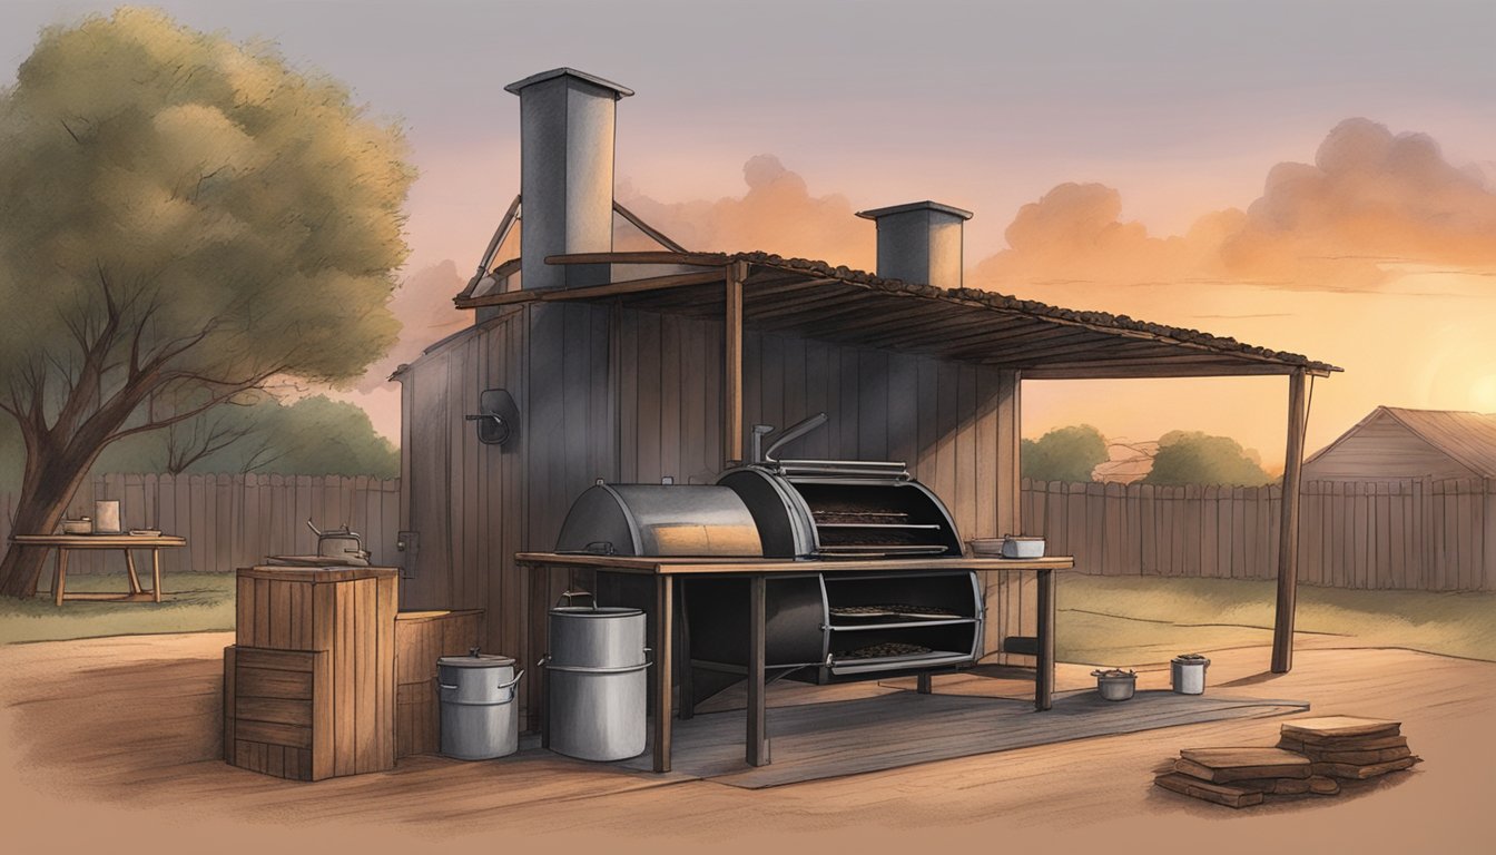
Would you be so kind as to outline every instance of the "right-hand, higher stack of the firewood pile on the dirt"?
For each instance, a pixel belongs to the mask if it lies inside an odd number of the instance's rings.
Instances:
[[[1400,731],[1400,722],[1355,716],[1300,719],[1284,725],[1278,747],[1309,758],[1316,776],[1366,780],[1421,761]]]

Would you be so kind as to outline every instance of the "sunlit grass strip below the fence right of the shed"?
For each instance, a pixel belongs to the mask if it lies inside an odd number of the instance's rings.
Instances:
[[[1179,653],[1270,644],[1272,581],[1065,576],[1056,656],[1143,665]],[[1496,594],[1299,587],[1294,629],[1363,647],[1496,660]]]

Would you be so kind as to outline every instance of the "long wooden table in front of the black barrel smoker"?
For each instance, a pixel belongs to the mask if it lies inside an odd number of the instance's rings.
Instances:
[[[749,765],[769,764],[767,710],[764,705],[764,590],[769,576],[839,572],[911,572],[911,570],[1035,570],[1038,576],[1038,654],[1034,677],[1034,708],[1049,710],[1055,693],[1055,570],[1068,570],[1076,560],[1068,556],[1046,559],[901,559],[901,560],[779,560],[779,559],[664,559],[633,556],[585,556],[560,553],[519,553],[516,563],[531,572],[548,568],[574,568],[636,573],[655,579],[655,719],[654,771],[670,771],[670,719],[675,705],[670,689],[675,681],[672,656],[673,590],[676,576],[747,576],[748,578],[748,732],[745,758]],[[531,597],[548,597],[549,588],[533,579]],[[533,602],[537,609],[540,602]],[[922,681],[922,689],[928,683]],[[542,716],[545,735],[545,716]]]

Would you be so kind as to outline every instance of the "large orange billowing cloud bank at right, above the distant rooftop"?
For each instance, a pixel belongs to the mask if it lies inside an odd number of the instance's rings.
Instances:
[[[1011,249],[978,264],[975,283],[1058,299],[1086,285],[1360,290],[1387,282],[1388,264],[1496,268],[1496,192],[1481,169],[1364,118],[1336,126],[1313,165],[1273,166],[1246,211],[1206,214],[1185,235],[1149,237],[1121,213],[1110,187],[1061,184],[1019,210]]]

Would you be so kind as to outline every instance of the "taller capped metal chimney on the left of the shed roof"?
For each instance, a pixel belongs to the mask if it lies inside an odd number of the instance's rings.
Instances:
[[[603,285],[609,265],[546,256],[613,249],[613,114],[633,90],[576,69],[504,87],[519,96],[521,287]]]

